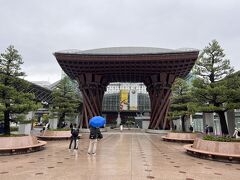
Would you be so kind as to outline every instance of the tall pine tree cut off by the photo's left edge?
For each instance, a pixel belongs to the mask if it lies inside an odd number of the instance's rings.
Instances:
[[[3,112],[4,133],[10,134],[10,121],[36,108],[34,95],[25,93],[29,84],[21,79],[22,57],[14,46],[0,56],[0,109]]]

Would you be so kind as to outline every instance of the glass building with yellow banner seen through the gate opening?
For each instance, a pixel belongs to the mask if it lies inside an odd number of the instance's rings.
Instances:
[[[108,123],[120,113],[122,122],[150,112],[150,99],[143,83],[110,83],[104,94],[102,112]]]

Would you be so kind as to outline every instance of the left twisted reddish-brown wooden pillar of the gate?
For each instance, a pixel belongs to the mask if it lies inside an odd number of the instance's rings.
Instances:
[[[77,81],[83,97],[83,127],[88,128],[88,121],[102,114],[102,100],[107,82],[102,75],[81,74]]]

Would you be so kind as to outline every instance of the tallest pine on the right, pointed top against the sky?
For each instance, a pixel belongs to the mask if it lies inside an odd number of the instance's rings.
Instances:
[[[195,65],[197,78],[193,81],[195,109],[215,112],[220,118],[223,134],[228,134],[224,112],[226,109],[228,87],[223,80],[233,72],[230,61],[225,58],[224,50],[216,40],[205,47]]]

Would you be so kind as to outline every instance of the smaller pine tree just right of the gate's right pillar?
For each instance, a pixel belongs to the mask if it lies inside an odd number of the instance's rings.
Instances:
[[[172,86],[172,97],[169,115],[175,119],[180,117],[182,122],[182,131],[185,129],[186,117],[190,114],[188,103],[192,101],[190,85],[184,79],[176,79]]]

